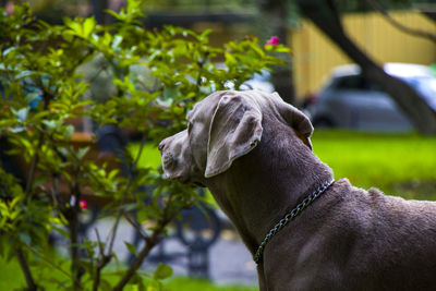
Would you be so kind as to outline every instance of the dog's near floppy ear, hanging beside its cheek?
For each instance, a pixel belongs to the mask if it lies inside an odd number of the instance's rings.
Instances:
[[[262,137],[262,112],[239,95],[223,95],[211,118],[205,177],[225,172]]]

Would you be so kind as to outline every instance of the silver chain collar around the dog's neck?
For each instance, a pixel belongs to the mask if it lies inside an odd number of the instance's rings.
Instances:
[[[262,259],[262,255],[264,253],[265,245],[271,240],[272,235],[279,232],[289,221],[293,220],[298,215],[303,211],[311,203],[313,203],[317,197],[319,197],[332,183],[335,180],[326,182],[317,187],[313,193],[311,193],[307,197],[304,198],[299,205],[295,206],[290,213],[288,213],[274,228],[266,234],[264,241],[257,247],[256,253],[254,254],[254,262],[258,264]]]

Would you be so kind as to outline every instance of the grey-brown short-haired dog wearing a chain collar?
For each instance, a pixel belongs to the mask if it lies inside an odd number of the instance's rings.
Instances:
[[[436,290],[436,203],[334,181],[280,96],[222,90],[159,144],[169,179],[207,186],[264,290]],[[295,215],[296,214],[296,215]]]

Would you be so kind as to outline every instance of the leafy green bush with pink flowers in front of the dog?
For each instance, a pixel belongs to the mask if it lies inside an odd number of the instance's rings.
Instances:
[[[21,179],[0,172],[0,253],[17,258],[28,290],[52,280],[73,290],[122,290],[129,283],[145,288],[137,274],[142,262],[168,222],[201,198],[162,179],[159,168],[136,167],[146,142],[157,144],[181,130],[194,102],[229,82],[239,88],[254,73],[279,64],[272,54],[288,52],[281,45],[259,46],[254,37],[213,47],[210,31],[146,29],[142,2],[131,0],[121,12],[110,12],[117,21],[107,26],[94,17],[49,25],[35,20],[26,4],[15,5],[10,15],[0,10],[0,133],[2,146],[9,145],[2,159],[25,165]],[[217,68],[218,61],[226,68]],[[89,62],[97,64],[94,75],[81,74]],[[94,96],[93,82],[102,74],[111,78],[105,84],[108,96]],[[90,158],[94,143],[74,142],[74,119],[141,133],[135,155],[119,155],[124,172]],[[155,186],[144,191],[143,185]],[[105,209],[114,217],[106,241],[98,232],[97,241],[81,241],[77,235],[85,192],[106,198]],[[143,247],[126,245],[135,259],[113,286],[102,270],[116,256],[113,241],[123,217],[134,227],[135,221],[154,220],[154,227],[142,232]],[[69,258],[50,255],[48,235],[53,231],[69,240]],[[84,250],[86,256],[81,256]],[[65,278],[43,276],[47,268]],[[152,278],[159,281],[170,275],[169,267],[160,265]]]

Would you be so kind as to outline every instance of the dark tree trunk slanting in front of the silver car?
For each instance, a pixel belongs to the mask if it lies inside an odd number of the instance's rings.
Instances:
[[[436,135],[436,112],[408,84],[392,77],[347,36],[334,0],[298,0],[301,12],[362,69],[362,74],[389,94],[425,135]]]

